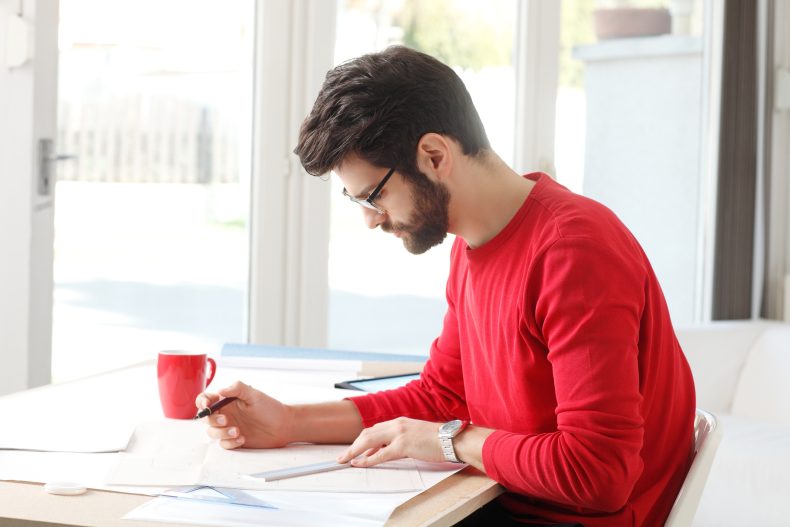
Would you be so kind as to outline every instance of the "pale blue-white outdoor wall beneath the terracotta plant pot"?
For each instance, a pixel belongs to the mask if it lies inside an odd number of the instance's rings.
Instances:
[[[702,165],[702,42],[587,46],[584,194],[611,208],[656,271],[676,323],[695,319]]]

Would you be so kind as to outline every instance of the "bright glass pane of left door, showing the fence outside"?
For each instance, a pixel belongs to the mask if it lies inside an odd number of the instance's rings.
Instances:
[[[61,0],[52,370],[246,338],[254,0]]]

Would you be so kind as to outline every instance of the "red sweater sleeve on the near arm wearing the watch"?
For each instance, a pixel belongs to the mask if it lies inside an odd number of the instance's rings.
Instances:
[[[640,318],[646,271],[624,240],[560,238],[529,271],[529,331],[548,350],[556,431],[498,430],[483,464],[509,490],[582,509],[623,507],[643,470]]]

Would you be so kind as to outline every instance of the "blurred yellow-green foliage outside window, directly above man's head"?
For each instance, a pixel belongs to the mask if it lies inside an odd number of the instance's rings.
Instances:
[[[407,46],[452,67],[480,70],[512,64],[513,10],[502,0],[404,0],[396,23]]]

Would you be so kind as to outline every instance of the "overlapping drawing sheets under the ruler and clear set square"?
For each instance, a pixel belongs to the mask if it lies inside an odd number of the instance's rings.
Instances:
[[[165,492],[125,519],[295,527],[314,524],[320,511],[322,526],[378,526],[400,504],[462,468],[404,459],[266,482],[249,474],[334,459],[347,447],[225,450],[207,440],[201,428],[201,423],[164,420],[137,428],[128,451],[119,454],[110,483],[198,487]]]

